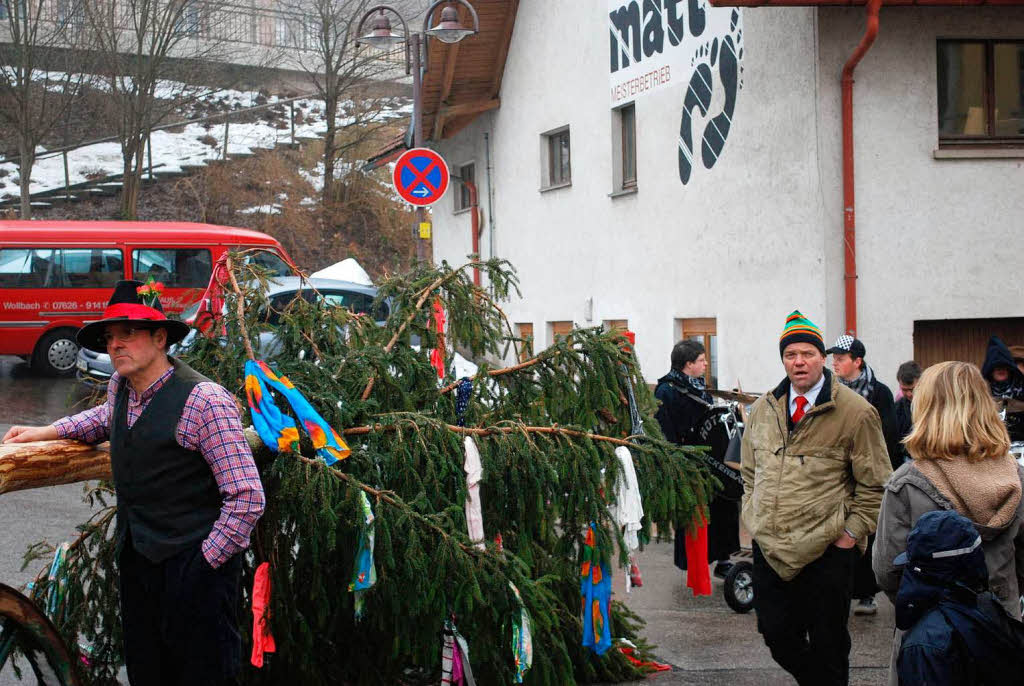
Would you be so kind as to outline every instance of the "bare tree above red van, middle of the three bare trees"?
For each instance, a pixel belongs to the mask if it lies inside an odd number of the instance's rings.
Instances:
[[[219,31],[238,13],[217,0],[82,0],[113,99],[124,165],[121,216],[137,216],[153,128],[209,94],[232,49]],[[261,57],[269,60],[269,52]],[[226,141],[225,141],[226,144]]]

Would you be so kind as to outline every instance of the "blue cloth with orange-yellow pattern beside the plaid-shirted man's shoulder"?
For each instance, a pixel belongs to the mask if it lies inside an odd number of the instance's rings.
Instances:
[[[312,439],[317,457],[328,467],[351,454],[344,439],[313,410],[288,377],[279,377],[263,360],[250,359],[246,362],[246,398],[252,411],[253,426],[268,448],[274,453],[292,453],[297,452],[299,442],[295,420],[274,404],[271,388],[292,405],[300,425]]]

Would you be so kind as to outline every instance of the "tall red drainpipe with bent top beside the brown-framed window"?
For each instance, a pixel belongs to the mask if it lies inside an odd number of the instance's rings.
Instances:
[[[867,28],[860,45],[843,67],[843,245],[845,247],[846,333],[857,334],[857,218],[853,176],[853,70],[879,35],[882,0],[867,0]]]

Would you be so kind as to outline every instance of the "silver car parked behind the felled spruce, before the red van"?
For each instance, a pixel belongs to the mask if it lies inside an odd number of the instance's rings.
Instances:
[[[306,284],[312,285],[319,292],[324,302],[328,305],[347,307],[357,314],[372,314],[374,320],[383,325],[390,312],[388,303],[382,302],[374,306],[377,298],[377,288],[364,286],[351,282],[334,281],[332,278],[308,278]],[[270,300],[271,312],[266,321],[270,327],[278,324],[278,315],[273,310],[282,310],[288,303],[295,299],[301,291],[301,295],[306,300],[312,302],[314,292],[309,289],[302,289],[303,280],[299,276],[276,276],[270,284],[267,297]],[[199,311],[199,303],[193,304],[181,313],[181,318],[185,321],[196,316]],[[196,337],[196,330],[191,330],[183,341],[172,347],[172,352],[182,347],[187,347]],[[263,354],[271,354],[276,348],[273,332],[265,331],[259,335],[259,350]],[[80,348],[78,351],[77,377],[78,380],[90,386],[105,386],[114,374],[114,366],[111,357],[105,352],[93,352]]]

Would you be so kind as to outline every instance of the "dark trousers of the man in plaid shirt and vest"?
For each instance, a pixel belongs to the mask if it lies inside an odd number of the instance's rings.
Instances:
[[[125,542],[121,621],[132,686],[236,684],[242,556],[212,568],[200,545],[154,563]]]

